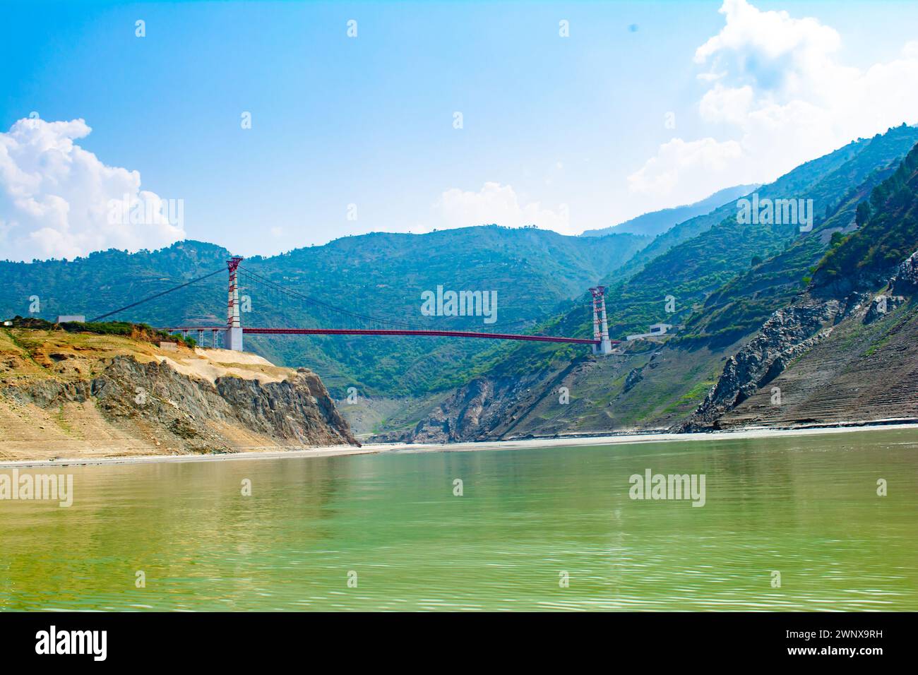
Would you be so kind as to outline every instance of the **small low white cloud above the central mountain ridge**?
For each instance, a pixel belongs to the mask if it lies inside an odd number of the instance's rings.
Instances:
[[[433,205],[435,227],[464,228],[496,223],[505,227],[537,225],[543,230],[574,234],[564,205],[554,211],[539,202],[520,203],[511,186],[486,183],[478,192],[456,187],[444,192]]]

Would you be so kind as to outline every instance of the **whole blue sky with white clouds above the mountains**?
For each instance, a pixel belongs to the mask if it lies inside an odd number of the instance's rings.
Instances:
[[[914,2],[29,0],[0,21],[0,259],[578,234],[918,122]]]

